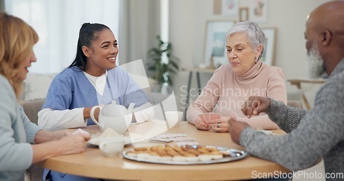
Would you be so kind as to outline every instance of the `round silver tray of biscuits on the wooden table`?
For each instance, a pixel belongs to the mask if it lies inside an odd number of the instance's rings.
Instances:
[[[158,145],[135,147],[122,153],[124,158],[138,162],[151,162],[169,165],[201,165],[231,162],[248,156],[247,152],[228,147],[200,145]]]

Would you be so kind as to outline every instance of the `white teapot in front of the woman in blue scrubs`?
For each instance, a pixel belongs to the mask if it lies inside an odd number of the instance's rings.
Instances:
[[[101,106],[93,106],[91,109],[91,119],[99,125],[102,131],[105,128],[111,128],[118,134],[123,134],[131,123],[133,106],[135,106],[135,103],[131,103],[127,109],[125,106],[116,104],[116,101],[111,101],[111,104],[107,104],[103,108]],[[98,120],[94,117],[94,110],[96,108],[100,109]]]

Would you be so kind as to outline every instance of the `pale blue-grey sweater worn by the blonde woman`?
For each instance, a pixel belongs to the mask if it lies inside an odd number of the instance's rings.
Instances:
[[[34,136],[41,130],[17,103],[12,86],[0,75],[0,180],[24,180],[32,164]]]

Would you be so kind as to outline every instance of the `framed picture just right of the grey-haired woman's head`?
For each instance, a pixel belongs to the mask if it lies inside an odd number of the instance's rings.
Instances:
[[[266,45],[261,56],[261,62],[264,62],[268,65],[274,64],[274,55],[275,55],[275,37],[276,37],[276,28],[275,27],[261,27],[266,36]]]

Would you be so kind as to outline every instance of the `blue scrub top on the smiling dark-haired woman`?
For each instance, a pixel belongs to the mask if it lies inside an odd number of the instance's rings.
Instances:
[[[111,104],[112,100],[128,108],[131,103],[135,103],[135,107],[146,104],[148,97],[120,67],[107,71],[107,84],[103,95],[97,93],[79,67],[69,67],[52,80],[42,109],[72,110]],[[94,125],[94,122],[88,119],[87,125]]]

